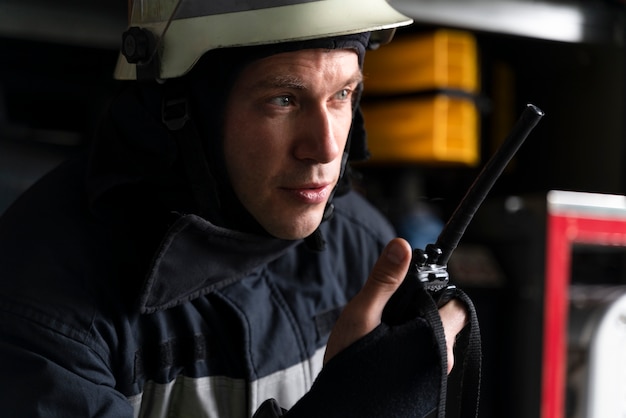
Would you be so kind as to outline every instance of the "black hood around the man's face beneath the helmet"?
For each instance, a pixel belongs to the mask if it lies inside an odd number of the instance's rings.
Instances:
[[[304,48],[352,48],[357,51],[362,64],[368,39],[368,34],[359,34],[214,50],[205,54],[183,78],[167,80],[163,84],[123,82],[122,92],[112,102],[95,141],[88,173],[92,208],[108,210],[107,194],[127,193],[129,205],[132,204],[137,211],[157,211],[164,217],[172,212],[192,213],[217,226],[266,234],[235,196],[223,159],[223,104],[236,77],[247,64],[257,59]],[[189,120],[185,130],[172,130],[163,123],[163,103],[172,98],[188,103]],[[196,158],[189,158],[190,153],[185,152],[184,146],[181,149],[181,141],[190,140],[198,142],[198,149],[203,154],[201,163]],[[357,97],[350,140],[344,153],[344,173],[335,194],[343,194],[349,189],[350,176],[345,172],[349,171],[347,161],[367,157]],[[191,159],[196,161],[189,161]],[[199,165],[203,167],[196,167]],[[196,173],[196,178],[210,177],[211,181],[200,186],[194,184],[190,170]],[[200,193],[199,187],[202,189]],[[208,204],[198,202],[205,198]],[[203,206],[212,210],[203,212]]]

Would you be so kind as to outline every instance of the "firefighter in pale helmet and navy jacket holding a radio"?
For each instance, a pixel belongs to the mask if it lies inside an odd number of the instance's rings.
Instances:
[[[350,188],[385,0],[135,0],[85,156],[0,220],[11,417],[437,409],[466,323],[389,326],[408,243]]]

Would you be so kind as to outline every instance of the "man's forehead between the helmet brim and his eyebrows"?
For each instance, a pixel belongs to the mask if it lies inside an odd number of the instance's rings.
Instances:
[[[303,49],[274,54],[248,64],[238,77],[238,84],[258,88],[360,81],[358,55],[351,49]]]

